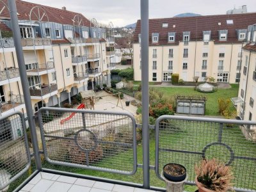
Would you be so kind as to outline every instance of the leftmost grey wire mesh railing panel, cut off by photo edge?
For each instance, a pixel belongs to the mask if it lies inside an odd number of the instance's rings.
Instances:
[[[20,113],[0,118],[0,190],[26,172],[30,154],[26,129]]]

